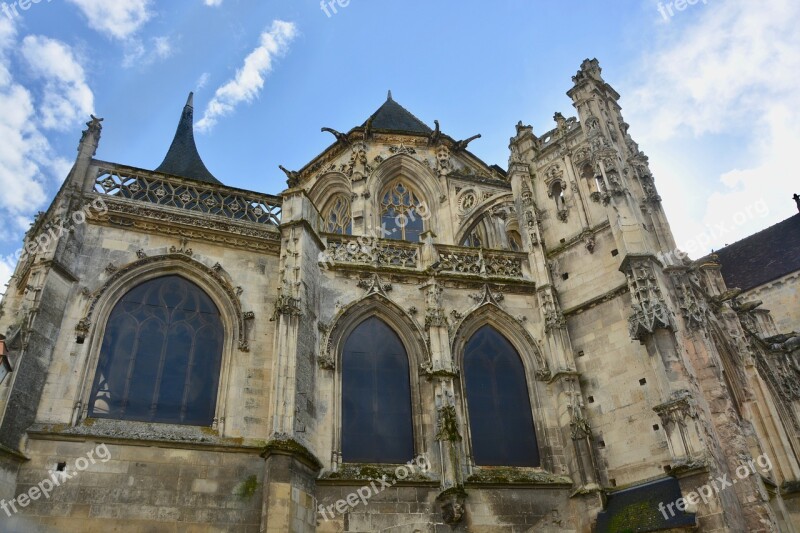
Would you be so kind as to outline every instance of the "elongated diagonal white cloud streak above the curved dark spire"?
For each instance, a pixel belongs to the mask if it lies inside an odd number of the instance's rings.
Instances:
[[[203,118],[197,123],[200,131],[214,127],[221,117],[233,112],[242,102],[251,102],[264,87],[264,77],[272,71],[275,58],[289,49],[297,35],[297,27],[291,22],[276,20],[269,31],[261,34],[261,44],[244,60],[236,77],[217,89],[209,102]]]

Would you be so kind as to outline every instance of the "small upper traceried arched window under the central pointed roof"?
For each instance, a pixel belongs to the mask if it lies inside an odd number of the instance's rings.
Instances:
[[[395,181],[381,195],[381,226],[388,239],[419,242],[425,231],[422,220],[427,214],[419,195],[403,181]]]

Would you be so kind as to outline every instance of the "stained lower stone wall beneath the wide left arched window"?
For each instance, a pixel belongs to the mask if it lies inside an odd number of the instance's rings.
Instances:
[[[95,464],[79,471],[76,460],[99,444],[31,439],[16,494],[50,479],[58,463],[66,463],[71,477],[49,498],[20,509],[17,519],[42,531],[259,531],[264,460],[258,451],[108,444],[108,455],[95,454]]]

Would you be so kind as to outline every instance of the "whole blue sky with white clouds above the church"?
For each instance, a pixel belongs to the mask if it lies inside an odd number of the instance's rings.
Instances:
[[[386,99],[506,166],[541,134],[584,58],[622,95],[679,245],[693,256],[796,212],[800,3],[698,0],[41,0],[0,12],[0,281],[72,164],[89,113],[97,157],[155,168],[189,91],[225,184],[268,193]],[[673,15],[668,12],[672,9]],[[724,231],[723,231],[724,228]],[[692,250],[694,242],[694,250]],[[2,289],[0,289],[1,291]]]

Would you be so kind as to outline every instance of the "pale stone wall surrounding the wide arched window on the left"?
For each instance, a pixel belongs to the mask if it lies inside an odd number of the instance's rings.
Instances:
[[[82,344],[76,342],[75,326],[85,316],[90,302],[87,296],[81,294],[82,289],[86,288],[90,294],[101,290],[116,269],[123,269],[140,260],[137,255],[139,250],[147,258],[157,258],[170,255],[172,247],[182,246],[182,249],[191,248],[190,259],[193,262],[208,268],[219,263],[230,276],[231,284],[242,288],[240,299],[243,310],[253,311],[255,314],[255,319],[248,326],[250,350],[243,352],[234,346],[225,354],[227,358],[223,357],[223,372],[228,372],[228,383],[224,390],[225,383],[220,383],[225,409],[221,415],[224,417],[224,435],[267,438],[273,335],[273,325],[269,319],[274,307],[272,295],[276,293],[276,282],[270,273],[276,269],[277,258],[220,248],[199,241],[182,245],[176,239],[157,234],[146,235],[117,227],[96,225],[85,228],[75,262],[69,265],[78,281],[69,287],[66,293],[69,297],[63,298],[65,311],[58,320],[63,324],[59,324],[60,332],[48,336],[48,341],[53,345],[49,349],[52,350],[52,362],[40,374],[42,377],[47,376],[47,380],[38,389],[30,389],[41,391],[41,401],[33,402],[38,405],[38,422],[70,423],[76,405],[85,398],[87,388],[92,383],[97,360],[96,349],[103,327],[102,324],[96,324],[93,335],[90,334]],[[154,264],[157,266],[157,263]],[[113,265],[115,270],[107,269],[108,265]],[[189,272],[170,266],[161,274],[189,275]],[[191,275],[188,279],[201,281]],[[122,287],[121,291],[124,294],[124,291],[138,283],[139,281],[134,281],[129,287]],[[49,301],[57,300],[50,298]],[[93,317],[95,322],[100,318]],[[231,323],[235,324],[233,321]],[[231,329],[226,331],[226,335],[235,337],[237,332]],[[30,346],[26,355],[49,351],[33,348],[35,347]],[[32,421],[28,422],[29,425],[30,423]]]

